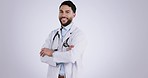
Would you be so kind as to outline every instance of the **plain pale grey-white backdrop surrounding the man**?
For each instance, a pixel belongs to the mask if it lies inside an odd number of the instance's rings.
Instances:
[[[39,51],[63,0],[0,0],[0,78],[46,78]],[[84,78],[148,78],[148,1],[73,0],[87,36]]]

